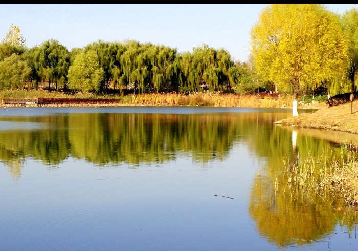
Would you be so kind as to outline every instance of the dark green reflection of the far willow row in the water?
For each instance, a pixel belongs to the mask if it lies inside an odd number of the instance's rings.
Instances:
[[[0,159],[12,161],[31,156],[47,164],[58,164],[71,155],[100,166],[123,162],[139,165],[170,161],[177,153],[184,152],[195,161],[222,160],[233,142],[244,140],[252,130],[259,133],[260,124],[271,124],[285,116],[286,113],[273,116],[267,112],[260,115],[66,113],[13,117],[12,123],[51,127],[0,131]],[[262,129],[272,130],[266,126]]]

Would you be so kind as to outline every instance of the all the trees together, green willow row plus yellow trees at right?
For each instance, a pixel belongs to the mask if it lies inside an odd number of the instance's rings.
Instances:
[[[357,27],[355,8],[339,15],[322,4],[272,4],[252,27],[250,58],[241,63],[206,44],[192,53],[135,40],[98,40],[69,51],[49,39],[27,48],[11,25],[0,44],[0,91],[250,94],[262,88],[293,93],[296,110],[298,95],[356,91]]]

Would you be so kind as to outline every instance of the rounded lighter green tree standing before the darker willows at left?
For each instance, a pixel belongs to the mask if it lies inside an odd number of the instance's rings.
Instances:
[[[104,70],[94,50],[79,52],[69,68],[68,87],[75,91],[99,92]]]

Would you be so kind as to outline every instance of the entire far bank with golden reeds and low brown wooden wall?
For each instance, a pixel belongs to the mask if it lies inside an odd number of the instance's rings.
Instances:
[[[264,94],[264,95],[263,95]],[[9,101],[12,99],[12,101]],[[16,100],[14,100],[16,99]],[[22,100],[18,100],[22,99]],[[26,100],[29,99],[29,100]],[[323,98],[324,99],[324,98]],[[323,100],[300,102],[299,109],[317,109]],[[39,101],[41,100],[41,101]],[[44,101],[46,100],[46,101]],[[317,100],[317,98],[316,98]],[[0,106],[222,106],[292,108],[293,96],[289,94],[269,95],[265,93],[239,95],[234,93],[199,92],[150,93],[150,94],[68,94],[47,90],[12,90],[0,92]]]

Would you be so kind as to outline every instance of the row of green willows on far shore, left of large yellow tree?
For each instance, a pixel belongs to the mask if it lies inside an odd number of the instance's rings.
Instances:
[[[9,33],[7,38],[15,38],[0,44],[0,90],[253,93],[258,87],[245,62],[234,62],[228,51],[205,44],[193,53],[177,53],[134,40],[99,40],[69,51],[54,39],[27,48],[18,27],[10,27]]]

